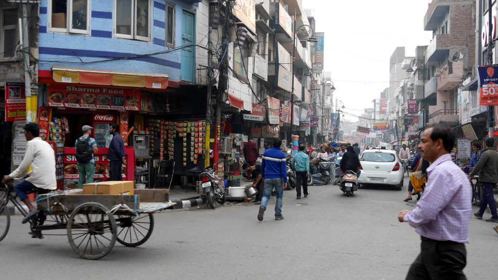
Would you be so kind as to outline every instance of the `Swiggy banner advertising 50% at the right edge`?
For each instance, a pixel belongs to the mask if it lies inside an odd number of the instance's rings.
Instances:
[[[498,67],[478,67],[479,73],[479,105],[498,105]]]

